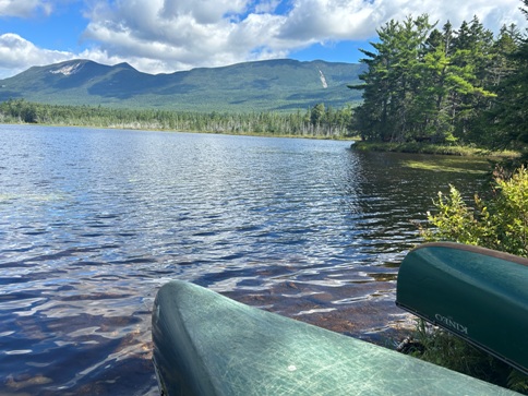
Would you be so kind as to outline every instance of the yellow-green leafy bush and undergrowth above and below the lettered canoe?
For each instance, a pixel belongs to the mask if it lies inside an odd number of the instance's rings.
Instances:
[[[517,169],[511,177],[495,172],[491,195],[475,195],[468,206],[460,192],[439,193],[435,214],[428,213],[429,226],[420,232],[427,241],[449,240],[528,256],[528,170]],[[432,227],[431,227],[432,226]],[[418,321],[413,337],[423,346],[415,356],[528,394],[528,376],[482,352],[449,333]]]

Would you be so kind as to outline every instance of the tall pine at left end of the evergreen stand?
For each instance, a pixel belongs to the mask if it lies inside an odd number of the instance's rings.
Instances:
[[[350,87],[363,89],[363,104],[356,111],[356,128],[363,139],[404,142],[421,133],[423,101],[417,93],[432,27],[428,15],[403,23],[393,20],[377,31],[379,43],[371,43],[376,52],[362,50],[370,58],[361,60],[369,67],[360,75],[364,84]]]

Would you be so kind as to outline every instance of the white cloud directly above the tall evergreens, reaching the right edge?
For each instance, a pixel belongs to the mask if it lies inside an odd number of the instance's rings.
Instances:
[[[307,41],[367,39],[389,20],[425,13],[433,23],[451,20],[455,27],[477,15],[487,28],[499,32],[503,24],[525,24],[519,4],[519,0],[296,0],[280,35]]]

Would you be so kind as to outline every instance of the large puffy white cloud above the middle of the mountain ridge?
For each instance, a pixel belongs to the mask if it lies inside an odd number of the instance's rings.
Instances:
[[[249,7],[230,0],[137,0],[117,8],[99,2],[87,13],[85,38],[107,53],[135,58],[139,69],[139,59],[173,71],[286,56],[284,45],[271,45],[284,16],[244,15]]]

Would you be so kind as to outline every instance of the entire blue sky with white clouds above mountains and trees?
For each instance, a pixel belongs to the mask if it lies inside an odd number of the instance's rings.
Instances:
[[[85,58],[147,73],[291,58],[357,62],[389,20],[526,27],[520,0],[0,0],[0,79]]]

